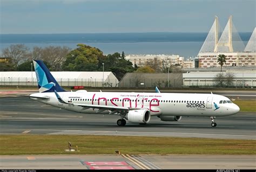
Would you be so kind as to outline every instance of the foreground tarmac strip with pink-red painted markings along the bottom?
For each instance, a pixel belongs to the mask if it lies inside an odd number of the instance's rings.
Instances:
[[[0,155],[0,159],[0,169],[256,169],[255,155]]]

